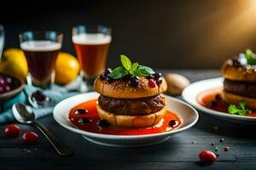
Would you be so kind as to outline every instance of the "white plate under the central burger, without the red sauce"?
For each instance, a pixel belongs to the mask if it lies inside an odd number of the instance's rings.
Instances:
[[[180,133],[183,130],[192,127],[198,120],[198,113],[193,107],[179,99],[166,96],[167,109],[177,113],[177,116],[179,116],[182,122],[182,124],[177,127],[177,129],[173,129],[172,131],[166,133],[127,136],[91,133],[73,127],[72,123],[68,120],[69,111],[75,105],[79,105],[80,103],[90,99],[96,99],[98,96],[99,94],[97,94],[96,92],[91,92],[87,94],[79,94],[71,98],[62,100],[58,105],[55,106],[55,109],[53,111],[55,121],[60,123],[62,127],[66,127],[68,130],[71,130],[74,133],[82,134],[85,139],[96,144],[115,147],[140,147],[164,142],[169,139],[172,134]]]

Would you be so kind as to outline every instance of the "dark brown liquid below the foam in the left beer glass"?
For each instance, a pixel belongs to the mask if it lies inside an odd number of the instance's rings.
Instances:
[[[49,87],[59,51],[60,49],[52,51],[27,51],[23,49],[34,85],[42,88]]]

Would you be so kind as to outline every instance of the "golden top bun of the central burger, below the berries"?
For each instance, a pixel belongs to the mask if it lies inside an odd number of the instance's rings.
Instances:
[[[111,98],[138,99],[163,94],[166,91],[167,84],[163,77],[159,86],[156,85],[154,88],[150,88],[148,86],[148,79],[140,77],[138,86],[132,88],[127,81],[121,79],[109,83],[97,77],[94,82],[94,88],[97,93]]]

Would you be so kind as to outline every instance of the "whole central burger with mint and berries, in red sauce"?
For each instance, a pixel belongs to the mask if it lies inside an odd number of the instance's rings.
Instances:
[[[152,127],[166,111],[166,81],[159,72],[121,55],[122,65],[96,78],[98,115],[117,127]]]

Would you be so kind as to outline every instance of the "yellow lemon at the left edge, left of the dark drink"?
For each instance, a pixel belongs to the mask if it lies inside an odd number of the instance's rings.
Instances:
[[[26,57],[21,49],[8,48],[3,51],[0,72],[25,82],[27,70]]]

